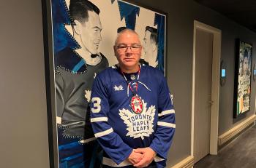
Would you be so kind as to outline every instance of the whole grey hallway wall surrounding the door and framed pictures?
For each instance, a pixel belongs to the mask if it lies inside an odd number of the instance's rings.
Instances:
[[[173,165],[190,155],[193,21],[222,30],[227,81],[219,91],[219,135],[255,111],[252,81],[251,109],[241,119],[233,119],[235,39],[249,41],[254,47],[256,34],[191,0],[130,1],[167,13],[167,81],[176,108],[176,135],[168,156],[168,165]],[[0,15],[0,167],[46,168],[49,161],[41,1],[4,1]],[[255,62],[254,56],[252,65]]]

